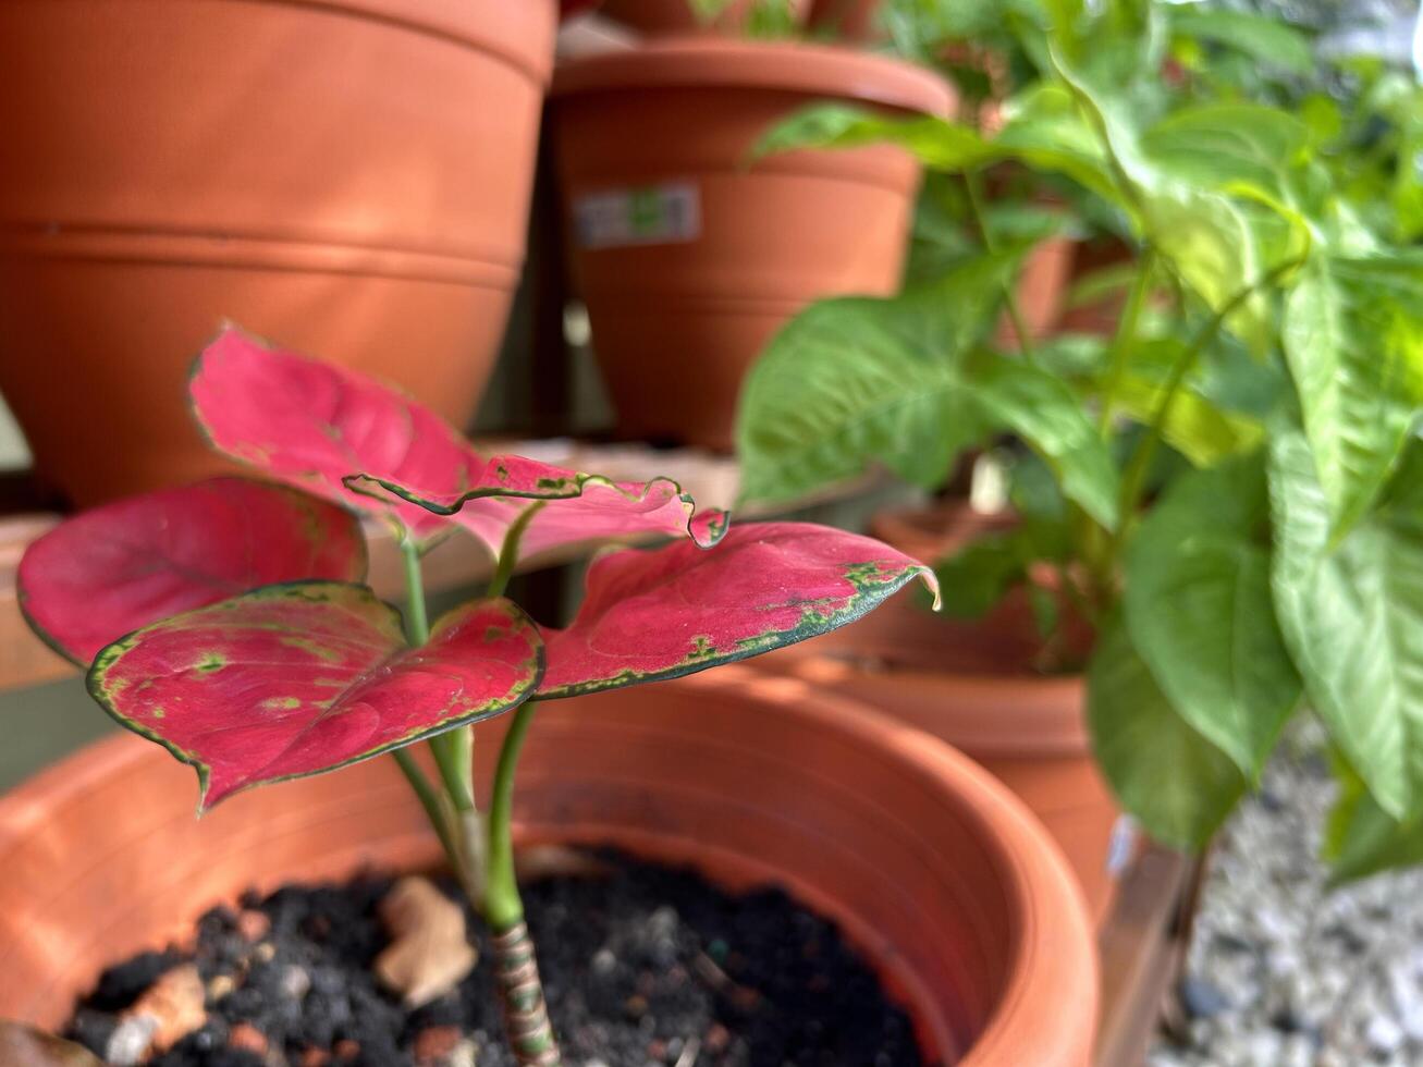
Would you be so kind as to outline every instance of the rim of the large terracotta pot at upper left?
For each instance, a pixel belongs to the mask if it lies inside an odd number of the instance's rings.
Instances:
[[[259,0],[266,4],[289,7],[316,7],[337,11],[357,18],[390,23],[416,33],[444,37],[464,47],[488,53],[517,67],[541,85],[548,85],[552,74],[554,55],[542,50],[515,47],[515,41],[528,44],[542,41],[545,33],[525,31],[519,34],[490,34],[474,6],[451,4],[448,0]],[[551,0],[517,0],[507,4],[514,17],[525,21],[539,20],[539,7],[546,7],[546,20],[552,27],[559,20],[559,7]]]

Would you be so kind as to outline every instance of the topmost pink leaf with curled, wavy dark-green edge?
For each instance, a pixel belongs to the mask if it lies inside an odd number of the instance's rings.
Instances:
[[[524,551],[657,532],[710,546],[726,515],[696,515],[666,478],[615,482],[518,455],[481,457],[437,414],[344,367],[269,349],[236,327],[203,350],[189,386],[213,445],[342,504],[390,518],[417,542],[455,528],[498,555],[532,501]]]

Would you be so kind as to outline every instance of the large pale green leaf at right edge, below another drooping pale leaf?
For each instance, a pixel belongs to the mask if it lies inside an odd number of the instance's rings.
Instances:
[[[1336,546],[1302,434],[1275,435],[1269,494],[1275,612],[1309,703],[1385,811],[1423,812],[1423,457]]]

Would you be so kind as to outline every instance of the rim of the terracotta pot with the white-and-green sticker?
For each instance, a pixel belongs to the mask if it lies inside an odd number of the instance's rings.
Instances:
[[[639,48],[561,63],[554,97],[606,90],[734,87],[862,100],[946,117],[953,88],[938,74],[902,60],[801,41],[659,37]]]

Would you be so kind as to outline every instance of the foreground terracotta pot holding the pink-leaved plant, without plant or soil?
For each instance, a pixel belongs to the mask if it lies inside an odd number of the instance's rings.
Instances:
[[[504,721],[481,727],[481,780]],[[191,770],[124,736],[0,801],[0,1016],[61,1023],[105,963],[249,885],[435,861],[390,760],[201,822],[194,797]],[[1062,858],[998,782],[857,704],[736,667],[552,703],[517,824],[522,844],[613,844],[731,888],[787,886],[879,969],[931,1061],[1089,1063],[1096,962]]]

